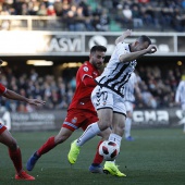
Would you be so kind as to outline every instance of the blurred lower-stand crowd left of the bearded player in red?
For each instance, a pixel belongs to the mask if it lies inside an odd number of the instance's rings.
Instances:
[[[30,73],[17,73],[10,67],[3,67],[3,73],[0,76],[0,82],[7,88],[18,92],[27,98],[37,98],[47,101],[44,109],[63,109],[67,108],[72,100],[75,89],[75,77],[70,81],[64,81],[62,77],[53,75],[39,76],[35,70]],[[5,108],[9,111],[32,112],[35,108],[25,102],[8,100],[0,97],[1,109]]]

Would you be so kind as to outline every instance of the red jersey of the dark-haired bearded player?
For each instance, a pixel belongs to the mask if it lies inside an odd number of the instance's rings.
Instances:
[[[96,83],[92,86],[86,86],[83,81],[87,76],[95,79],[100,74],[98,70],[95,69],[95,66],[90,62],[85,62],[78,69],[77,74],[76,74],[76,90],[74,92],[69,110],[70,109],[85,109],[88,111],[95,111],[95,108],[91,103],[90,96],[91,96],[92,89],[96,86]]]

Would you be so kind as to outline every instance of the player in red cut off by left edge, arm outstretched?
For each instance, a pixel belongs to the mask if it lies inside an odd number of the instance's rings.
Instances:
[[[0,65],[2,64],[2,61],[0,60]],[[27,102],[29,104],[34,106],[42,106],[45,104],[45,101],[38,100],[38,99],[27,99],[8,88],[5,88],[2,84],[0,84],[0,95],[13,100],[20,100]],[[33,181],[35,180],[34,176],[30,176],[27,174],[22,166],[22,153],[21,149],[16,143],[16,140],[13,138],[11,133],[7,130],[7,127],[0,123],[0,143],[5,145],[9,148],[9,156],[14,164],[14,168],[16,170],[15,180],[26,180],[26,181]]]

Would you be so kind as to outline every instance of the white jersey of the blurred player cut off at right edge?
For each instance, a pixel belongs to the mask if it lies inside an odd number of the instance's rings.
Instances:
[[[175,101],[182,104],[185,103],[185,81],[181,81],[177,86]]]

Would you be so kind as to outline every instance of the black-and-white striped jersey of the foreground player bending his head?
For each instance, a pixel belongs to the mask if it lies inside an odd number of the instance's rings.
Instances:
[[[96,78],[99,86],[110,88],[118,95],[124,97],[124,86],[137,64],[136,60],[120,62],[120,55],[131,52],[130,45],[119,42],[106,66],[103,73]]]

